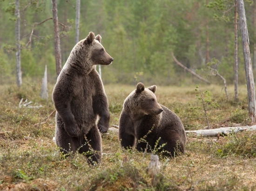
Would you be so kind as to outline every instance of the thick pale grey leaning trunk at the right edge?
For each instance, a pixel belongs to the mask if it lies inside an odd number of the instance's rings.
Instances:
[[[255,88],[254,88],[254,79],[250,58],[250,49],[249,49],[249,36],[247,29],[247,22],[244,10],[243,0],[237,0],[238,6],[238,15],[241,27],[242,43],[243,43],[243,59],[245,64],[245,76],[247,82],[247,95],[248,95],[248,109],[249,109],[249,118],[251,124],[256,124],[256,100],[255,100]]]

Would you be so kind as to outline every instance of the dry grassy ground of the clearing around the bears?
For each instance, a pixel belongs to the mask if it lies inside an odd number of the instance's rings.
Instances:
[[[145,84],[146,86],[153,84]],[[156,84],[157,85],[157,84]],[[53,85],[48,87],[51,95]],[[111,125],[118,125],[122,103],[135,86],[106,85]],[[211,128],[249,125],[246,86],[239,87],[239,100],[233,101],[233,87],[227,101],[221,86],[200,86],[209,103],[219,107],[207,111]],[[186,153],[173,159],[160,156],[158,183],[151,185],[147,173],[150,153],[123,151],[117,129],[102,134],[103,157],[99,166],[88,166],[75,153],[61,159],[53,141],[54,110],[51,98],[39,97],[40,84],[24,82],[0,86],[0,190],[4,191],[168,191],[256,189],[256,134],[241,132],[226,137],[202,138],[188,134]],[[207,126],[195,85],[158,86],[158,102],[173,110],[186,130]],[[19,108],[20,99],[42,108]],[[38,124],[40,123],[41,124]],[[125,162],[126,161],[126,162]]]

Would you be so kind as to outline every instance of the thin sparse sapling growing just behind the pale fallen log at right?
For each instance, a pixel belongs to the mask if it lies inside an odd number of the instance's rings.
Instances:
[[[202,92],[199,85],[195,85],[195,91],[199,92],[198,94],[196,94],[196,97],[202,103],[202,107],[195,107],[195,108],[203,110],[203,115],[206,120],[207,127],[209,129],[210,126],[209,126],[207,111],[209,111],[212,108],[217,108],[220,106],[218,105],[217,102],[212,102],[211,94],[208,90],[205,90]],[[191,108],[191,109],[195,109],[195,108]]]

